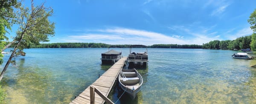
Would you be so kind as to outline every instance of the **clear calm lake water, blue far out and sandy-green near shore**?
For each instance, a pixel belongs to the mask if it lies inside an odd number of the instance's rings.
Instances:
[[[7,69],[2,86],[9,104],[69,103],[110,66],[101,65],[107,48],[25,49]],[[116,49],[119,51],[119,49]],[[134,52],[138,52],[134,49]],[[144,49],[143,49],[144,51]],[[129,49],[122,49],[128,56]],[[230,50],[148,49],[148,66],[138,70],[143,86],[133,101],[117,103],[256,103],[256,60],[233,59]],[[4,64],[10,54],[5,55]],[[2,65],[0,68],[3,69]],[[121,93],[115,87],[109,98]]]

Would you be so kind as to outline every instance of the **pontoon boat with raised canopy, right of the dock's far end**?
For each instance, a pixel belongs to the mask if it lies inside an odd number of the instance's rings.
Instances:
[[[131,48],[146,48],[145,52],[131,52]],[[128,55],[128,64],[130,65],[143,65],[146,66],[148,63],[148,47],[144,45],[131,45],[130,54]]]

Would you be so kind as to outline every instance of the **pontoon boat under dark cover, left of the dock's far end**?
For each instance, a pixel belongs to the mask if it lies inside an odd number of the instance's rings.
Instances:
[[[120,52],[117,52],[113,49],[109,50],[110,48],[120,48]],[[122,48],[119,46],[110,46],[108,47],[108,52],[102,53],[102,63],[103,64],[112,64],[116,63],[119,59],[122,58]]]

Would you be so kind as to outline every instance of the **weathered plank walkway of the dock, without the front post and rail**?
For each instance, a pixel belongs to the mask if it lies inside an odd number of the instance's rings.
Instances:
[[[92,85],[99,89],[103,95],[108,96],[120,70],[125,65],[126,60],[127,57],[121,58],[103,75],[101,75],[99,79],[93,82]],[[105,101],[97,93],[95,93],[95,104],[103,104],[104,102]],[[71,101],[70,104],[90,104],[90,86],[81,92],[81,94],[79,94],[73,101]]]

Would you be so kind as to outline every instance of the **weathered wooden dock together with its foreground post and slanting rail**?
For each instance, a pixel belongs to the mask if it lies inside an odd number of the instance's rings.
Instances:
[[[123,57],[117,61],[116,64],[113,64],[95,82],[93,82],[73,101],[71,101],[70,104],[103,104],[104,102],[107,104],[114,104],[108,98],[108,95],[116,82],[120,69],[122,69],[125,64],[125,60],[127,60],[127,57]],[[104,89],[102,89],[102,87],[104,87]]]

